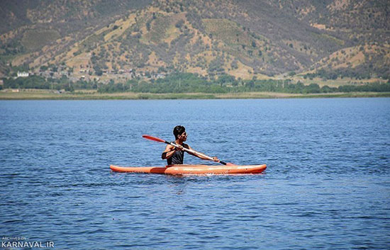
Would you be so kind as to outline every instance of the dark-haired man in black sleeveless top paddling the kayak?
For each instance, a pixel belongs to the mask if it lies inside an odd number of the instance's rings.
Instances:
[[[179,147],[174,147],[171,144],[167,144],[167,147],[165,147],[165,151],[162,152],[161,158],[167,159],[168,165],[183,164],[184,161],[183,147],[193,151],[194,149],[191,149],[191,147],[189,147],[189,144],[184,143],[187,140],[187,133],[185,127],[181,125],[177,125],[173,129],[173,134],[174,134],[174,138],[176,139],[173,143],[179,145]],[[194,157],[199,157],[200,159],[208,160],[201,154],[196,154],[196,153],[195,154],[189,153],[189,154],[193,155]],[[219,159],[217,157],[213,157],[213,161],[219,162]]]

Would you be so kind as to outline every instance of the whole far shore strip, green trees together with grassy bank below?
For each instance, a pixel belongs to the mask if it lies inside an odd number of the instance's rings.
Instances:
[[[1,90],[2,89],[2,90]],[[355,83],[328,86],[303,84],[291,79],[235,79],[221,75],[208,79],[191,73],[177,73],[162,79],[144,81],[131,79],[126,82],[113,80],[104,84],[99,81],[69,81],[43,76],[3,79],[0,98],[285,98],[312,96],[387,96],[390,81]],[[34,91],[35,90],[35,91]],[[196,94],[194,94],[196,93]],[[224,97],[223,97],[224,96]]]

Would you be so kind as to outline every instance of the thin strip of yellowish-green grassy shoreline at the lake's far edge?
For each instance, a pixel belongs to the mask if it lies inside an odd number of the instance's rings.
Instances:
[[[0,100],[175,100],[175,99],[277,99],[277,98],[358,98],[390,97],[390,92],[340,93],[52,93],[47,90],[0,91]]]

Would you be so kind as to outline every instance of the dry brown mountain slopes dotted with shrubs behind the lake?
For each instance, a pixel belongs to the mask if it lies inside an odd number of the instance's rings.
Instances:
[[[0,72],[389,79],[389,12],[387,0],[5,0]]]

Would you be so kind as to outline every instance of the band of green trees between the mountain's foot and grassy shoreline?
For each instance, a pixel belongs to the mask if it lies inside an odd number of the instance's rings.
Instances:
[[[4,79],[4,89],[52,89],[74,92],[75,90],[94,90],[98,93],[205,93],[205,94],[237,94],[237,93],[289,93],[289,94],[329,94],[352,92],[390,92],[390,83],[373,83],[362,85],[344,85],[338,88],[330,86],[320,87],[318,84],[304,85],[300,81],[296,84],[291,80],[237,80],[233,76],[222,75],[218,79],[207,79],[197,74],[176,73],[164,79],[151,81],[130,80],[126,83],[108,84],[98,81],[71,82],[66,76],[61,79],[45,79],[42,76],[28,76],[26,78]],[[142,96],[139,96],[142,98]],[[146,98],[146,97],[145,97]],[[179,98],[179,97],[178,97]]]

